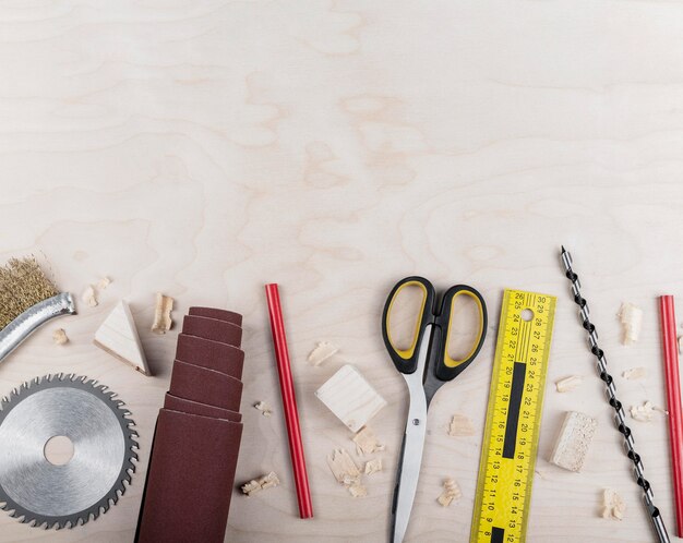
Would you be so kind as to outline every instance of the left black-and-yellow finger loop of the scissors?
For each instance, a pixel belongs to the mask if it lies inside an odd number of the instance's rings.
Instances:
[[[400,291],[409,287],[419,287],[422,290],[422,305],[416,322],[412,342],[408,348],[402,349],[396,346],[391,335],[392,306]],[[396,370],[400,373],[414,373],[418,367],[418,353],[420,352],[420,345],[423,340],[424,328],[434,319],[434,287],[431,282],[424,279],[424,277],[411,276],[398,281],[386,299],[384,312],[382,313],[382,337],[384,338],[384,345],[392,357]]]

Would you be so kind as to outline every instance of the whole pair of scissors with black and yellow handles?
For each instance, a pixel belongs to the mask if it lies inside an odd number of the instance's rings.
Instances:
[[[422,302],[417,315],[412,342],[399,348],[392,339],[391,316],[394,302],[403,289],[418,287]],[[454,302],[459,295],[470,297],[479,312],[479,329],[471,350],[463,359],[454,360],[448,354],[448,337],[453,322]],[[415,493],[420,476],[424,435],[427,432],[427,410],[436,390],[447,381],[457,377],[479,354],[487,335],[487,305],[481,294],[467,285],[451,287],[438,304],[434,287],[423,277],[406,277],[392,289],[382,315],[382,336],[392,361],[408,385],[410,402],[406,433],[404,434],[396,473],[396,487],[392,504],[391,542],[403,541]]]

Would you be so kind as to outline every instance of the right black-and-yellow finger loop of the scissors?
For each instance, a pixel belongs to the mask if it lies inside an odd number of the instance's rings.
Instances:
[[[479,313],[478,330],[470,351],[462,359],[453,359],[448,354],[448,338],[453,331],[451,329],[453,326],[453,309],[455,306],[456,299],[460,295],[471,298],[477,304]],[[436,325],[439,328],[439,337],[435,338],[435,347],[438,347],[438,350],[434,353],[438,357],[435,363],[436,377],[439,377],[440,381],[451,381],[457,377],[469,364],[471,364],[483,346],[488,326],[487,304],[481,294],[468,285],[456,285],[455,287],[451,287],[443,295],[441,311],[436,317]]]

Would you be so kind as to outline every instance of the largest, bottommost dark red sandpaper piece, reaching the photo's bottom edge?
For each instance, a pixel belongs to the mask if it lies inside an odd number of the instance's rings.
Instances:
[[[242,424],[161,409],[137,543],[223,543]]]

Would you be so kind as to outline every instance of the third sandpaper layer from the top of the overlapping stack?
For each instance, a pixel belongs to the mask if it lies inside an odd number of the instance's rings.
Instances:
[[[196,336],[178,335],[176,360],[242,378],[244,352],[231,345]]]

